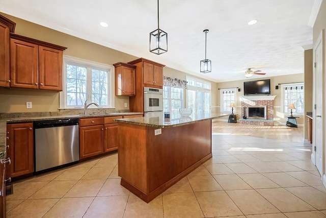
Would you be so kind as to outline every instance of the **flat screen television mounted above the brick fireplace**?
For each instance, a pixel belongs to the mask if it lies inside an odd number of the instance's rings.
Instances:
[[[270,79],[243,82],[243,94],[270,94]]]

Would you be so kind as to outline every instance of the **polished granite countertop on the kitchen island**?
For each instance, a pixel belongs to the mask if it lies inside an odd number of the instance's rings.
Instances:
[[[157,128],[169,128],[177,127],[182,125],[188,125],[196,123],[201,120],[215,119],[223,116],[228,116],[230,114],[218,114],[218,113],[205,113],[205,114],[191,114],[190,116],[181,116],[179,114],[172,115],[171,118],[164,118],[163,113],[159,113],[153,117],[135,117],[135,118],[122,118],[116,119],[117,122],[134,124],[140,126],[150,126]]]

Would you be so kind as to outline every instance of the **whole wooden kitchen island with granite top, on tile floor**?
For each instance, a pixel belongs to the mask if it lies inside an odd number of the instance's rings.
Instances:
[[[121,185],[150,202],[212,157],[211,119],[227,115],[116,119]]]

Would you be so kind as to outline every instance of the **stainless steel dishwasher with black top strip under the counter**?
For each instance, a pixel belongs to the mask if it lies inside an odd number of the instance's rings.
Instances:
[[[35,173],[79,160],[79,119],[34,122]]]

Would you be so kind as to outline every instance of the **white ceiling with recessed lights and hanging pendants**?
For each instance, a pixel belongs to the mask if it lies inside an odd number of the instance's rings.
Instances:
[[[168,52],[155,55],[149,33],[157,29],[156,0],[0,1],[3,13],[215,82],[246,79],[248,67],[266,72],[252,79],[303,73],[313,6],[313,0],[160,0],[159,27],[168,33]],[[249,26],[252,19],[258,22]],[[204,29],[208,74],[199,69]]]

